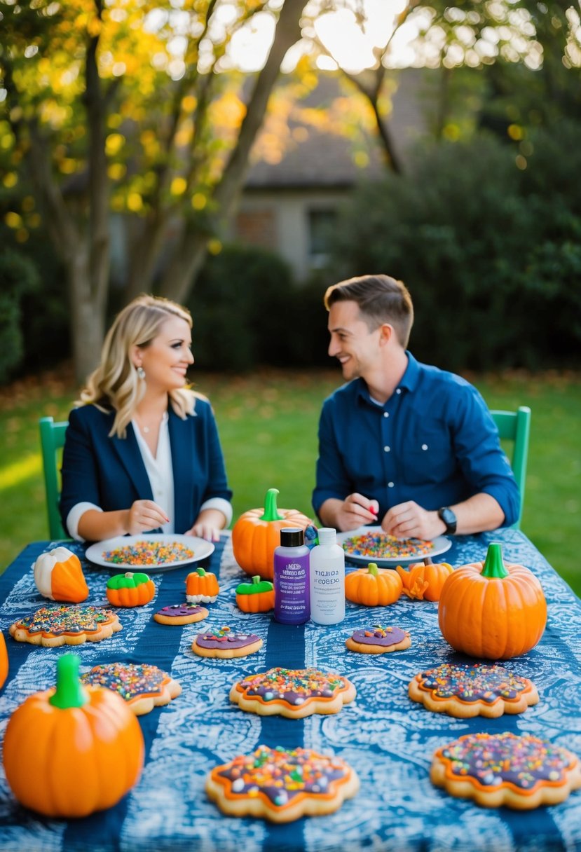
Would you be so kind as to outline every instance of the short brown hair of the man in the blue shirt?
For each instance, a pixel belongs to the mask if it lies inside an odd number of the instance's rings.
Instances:
[[[394,326],[399,342],[406,348],[413,325],[413,304],[403,281],[389,275],[360,275],[328,287],[323,301],[327,310],[335,302],[357,302],[371,331],[387,322]]]

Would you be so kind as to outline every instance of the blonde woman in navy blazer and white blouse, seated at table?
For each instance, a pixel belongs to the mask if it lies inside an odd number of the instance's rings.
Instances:
[[[211,540],[232,520],[210,403],[186,387],[191,346],[175,302],[139,296],[118,314],[66,430],[60,514],[72,538]]]

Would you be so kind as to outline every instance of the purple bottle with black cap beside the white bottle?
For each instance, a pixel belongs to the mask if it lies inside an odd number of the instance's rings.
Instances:
[[[274,550],[274,618],[282,625],[302,625],[311,617],[308,557],[302,529],[280,530]]]

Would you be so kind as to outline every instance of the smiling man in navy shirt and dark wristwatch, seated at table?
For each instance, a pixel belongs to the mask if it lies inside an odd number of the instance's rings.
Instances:
[[[314,510],[325,527],[381,524],[431,540],[513,524],[520,496],[479,392],[406,346],[411,296],[388,275],[329,287],[329,354],[348,384],[319,421]]]

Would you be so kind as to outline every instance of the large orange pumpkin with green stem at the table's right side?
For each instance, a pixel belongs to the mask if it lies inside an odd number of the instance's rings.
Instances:
[[[488,545],[485,562],[450,574],[440,596],[442,635],[457,651],[484,659],[510,659],[543,636],[547,602],[524,565],[503,563],[502,545]]]

